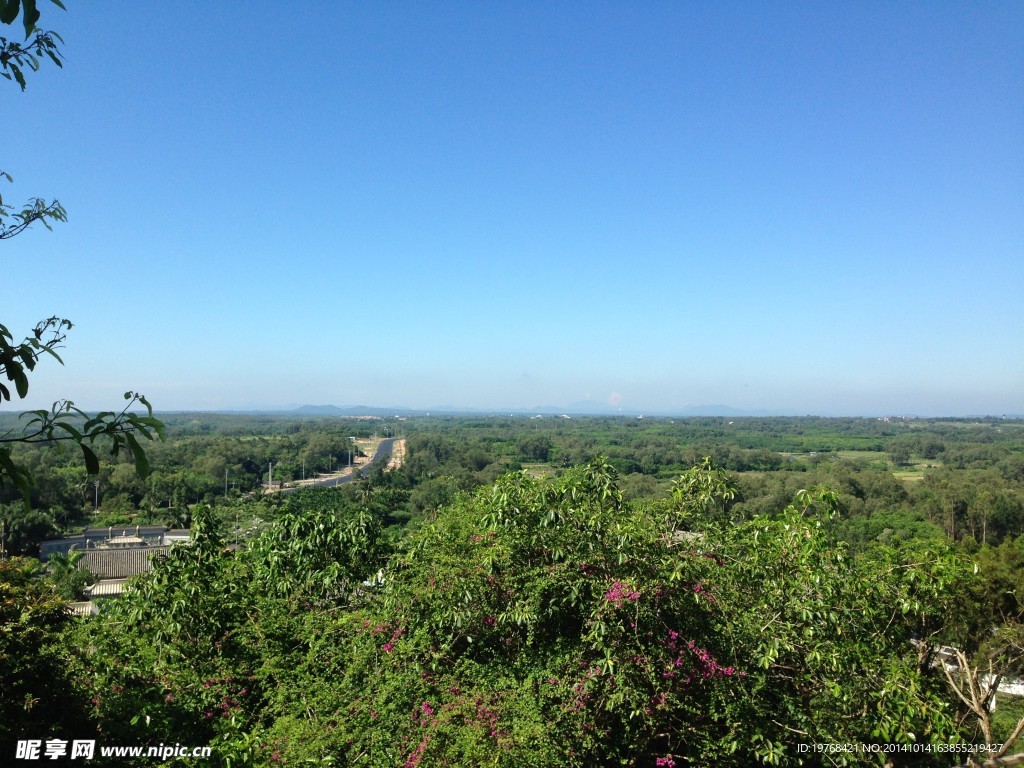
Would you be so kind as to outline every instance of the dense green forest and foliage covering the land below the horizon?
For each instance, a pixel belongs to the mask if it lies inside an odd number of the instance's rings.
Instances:
[[[997,691],[1024,676],[1019,420],[162,418],[144,478],[127,450],[89,473],[13,449],[35,482],[0,492],[4,743],[224,766],[1019,751]],[[383,437],[390,468],[279,493]],[[191,542],[71,617],[89,575],[40,542],[142,523]]]

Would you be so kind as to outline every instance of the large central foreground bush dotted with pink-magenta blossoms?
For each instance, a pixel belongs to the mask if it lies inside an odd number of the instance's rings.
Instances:
[[[733,672],[692,640],[712,610],[703,567],[623,505],[606,463],[551,484],[506,476],[440,510],[379,599],[321,628],[293,673],[302,682],[276,681],[283,714],[266,739],[289,758],[372,765],[659,754]],[[300,689],[317,713],[306,725]]]

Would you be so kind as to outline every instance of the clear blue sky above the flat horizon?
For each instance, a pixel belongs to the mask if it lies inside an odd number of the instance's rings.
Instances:
[[[66,5],[20,407],[1024,413],[1017,0]]]

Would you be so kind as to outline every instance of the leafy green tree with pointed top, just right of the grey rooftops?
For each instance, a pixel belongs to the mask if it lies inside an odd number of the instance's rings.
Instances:
[[[244,712],[252,686],[238,628],[250,609],[247,584],[209,511],[198,509],[188,545],[74,628],[75,679],[108,738],[206,744]]]

